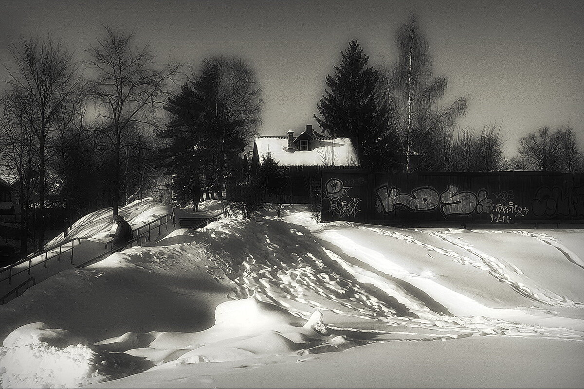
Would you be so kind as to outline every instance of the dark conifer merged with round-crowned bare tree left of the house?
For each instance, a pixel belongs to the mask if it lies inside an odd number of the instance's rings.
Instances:
[[[252,69],[238,58],[205,59],[165,106],[171,120],[159,136],[168,140],[161,151],[173,190],[188,197],[190,183],[201,178],[214,198],[226,177],[238,177],[233,156],[256,134],[261,108]]]

